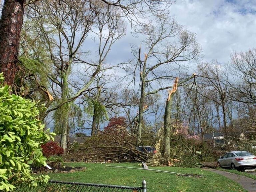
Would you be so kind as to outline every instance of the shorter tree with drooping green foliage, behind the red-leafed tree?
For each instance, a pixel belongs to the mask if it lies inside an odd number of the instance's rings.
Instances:
[[[100,123],[107,120],[108,117],[118,116],[119,108],[125,106],[122,101],[119,101],[119,87],[113,86],[116,79],[117,76],[114,73],[101,71],[96,75],[88,93],[81,98],[88,116],[92,116],[91,136],[98,134]]]

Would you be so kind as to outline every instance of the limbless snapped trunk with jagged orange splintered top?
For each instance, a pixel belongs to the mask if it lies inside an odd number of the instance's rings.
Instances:
[[[168,99],[166,101],[164,112],[164,156],[166,158],[170,155],[170,129],[171,129],[171,110],[172,110],[172,96],[178,87],[178,77],[176,77],[173,89],[169,91]]]

